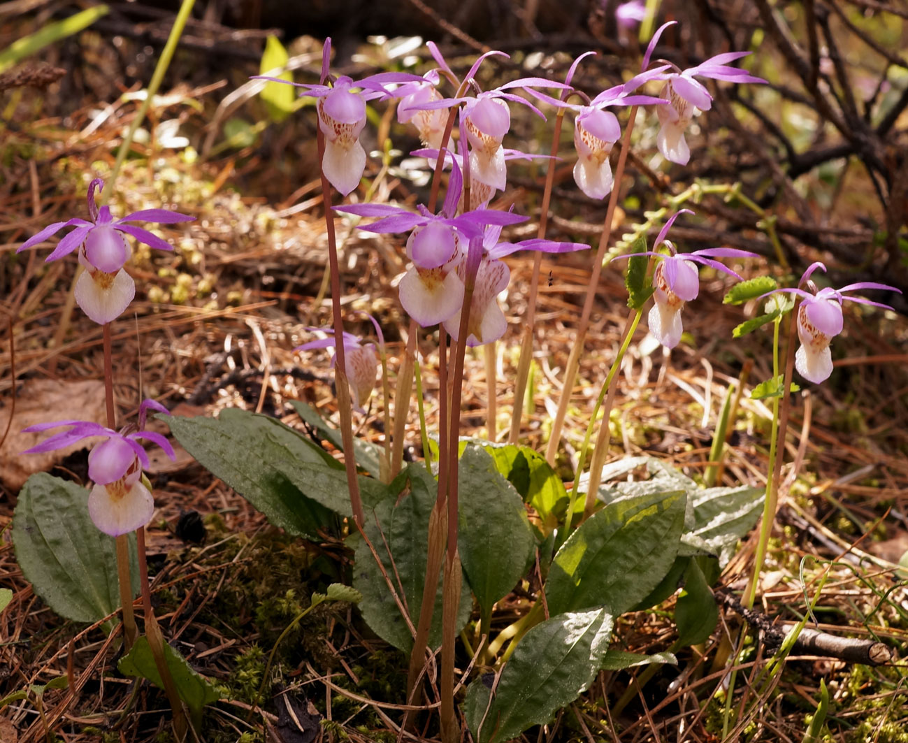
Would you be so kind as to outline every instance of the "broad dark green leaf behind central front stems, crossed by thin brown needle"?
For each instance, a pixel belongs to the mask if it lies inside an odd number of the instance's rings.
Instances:
[[[378,552],[385,571],[394,580],[395,589],[406,601],[410,617],[418,619],[429,560],[429,514],[435,505],[437,483],[421,462],[408,465],[402,474],[403,480],[409,483],[409,488],[397,499],[380,500],[368,508],[364,529]],[[376,520],[381,525],[380,528],[376,526]],[[356,554],[353,588],[362,594],[362,617],[381,639],[390,642],[395,648],[409,652],[413,637],[391,596],[388,584],[365,541],[355,537],[354,540]],[[394,558],[393,564],[388,554],[389,549]],[[441,589],[442,581],[439,578],[432,628],[429,632],[429,644],[433,648],[437,648],[441,642]],[[469,583],[463,580],[458,631],[467,623],[472,606]],[[412,619],[414,624],[416,619]]]

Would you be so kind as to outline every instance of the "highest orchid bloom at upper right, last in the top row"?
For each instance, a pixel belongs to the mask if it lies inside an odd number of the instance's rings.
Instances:
[[[669,21],[659,27],[646,47],[643,58],[643,69],[649,64],[649,58],[656,48],[662,32],[677,21]],[[700,111],[708,111],[713,105],[713,96],[706,87],[699,83],[695,77],[711,77],[714,80],[726,80],[730,83],[765,83],[761,77],[748,73],[739,67],[733,67],[728,62],[734,62],[745,57],[750,52],[725,52],[710,57],[706,62],[680,70],[676,73],[664,75],[665,87],[661,96],[667,98],[669,103],[656,108],[659,118],[659,134],[656,136],[656,146],[662,156],[672,163],[686,165],[690,160],[690,148],[687,146],[685,132],[691,119]],[[674,66],[674,65],[673,65]]]

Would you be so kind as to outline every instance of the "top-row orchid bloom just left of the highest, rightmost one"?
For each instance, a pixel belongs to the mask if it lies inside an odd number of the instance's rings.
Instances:
[[[589,54],[580,54],[568,70],[566,84],[570,84],[577,72],[577,65]],[[658,67],[646,73],[638,74],[625,84],[615,85],[598,94],[587,105],[568,104],[547,94],[530,90],[529,93],[558,108],[569,108],[577,112],[574,119],[574,147],[577,150],[577,163],[574,165],[574,181],[583,193],[591,199],[604,199],[612,191],[612,168],[608,157],[612,147],[621,138],[621,126],[615,114],[605,109],[617,105],[664,104],[662,98],[651,95],[631,95],[640,85],[656,79],[662,79],[666,66]],[[586,96],[585,96],[586,97]]]

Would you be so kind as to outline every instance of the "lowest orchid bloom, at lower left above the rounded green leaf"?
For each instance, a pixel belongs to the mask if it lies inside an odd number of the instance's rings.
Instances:
[[[152,441],[168,457],[175,459],[170,441],[160,433],[143,431],[145,415],[149,409],[167,413],[160,402],[143,401],[139,406],[139,431],[133,433],[125,433],[127,429],[118,433],[91,421],[54,421],[29,426],[25,431],[48,431],[60,426],[69,428],[54,433],[49,439],[23,453],[54,451],[83,439],[104,438],[88,454],[88,476],[94,482],[88,496],[88,514],[94,525],[105,534],[112,537],[128,534],[147,524],[154,512],[152,493],[142,481],[142,470],[149,466],[148,454],[138,440]]]

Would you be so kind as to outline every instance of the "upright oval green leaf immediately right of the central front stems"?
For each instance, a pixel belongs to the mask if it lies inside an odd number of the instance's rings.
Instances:
[[[458,549],[479,609],[510,593],[536,546],[523,500],[489,454],[468,446],[459,461]]]

